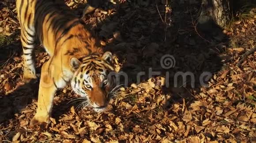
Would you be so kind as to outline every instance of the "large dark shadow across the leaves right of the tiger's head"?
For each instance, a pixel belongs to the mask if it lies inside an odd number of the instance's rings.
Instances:
[[[165,77],[169,86],[161,91],[171,95],[167,107],[183,98],[188,103],[195,100],[193,95],[222,69],[222,55],[229,44],[229,37],[217,25],[209,25],[207,32],[196,28],[199,1],[169,5],[165,15],[166,7],[160,2],[123,4],[111,19],[117,22],[115,30],[120,31],[121,40],[106,46],[124,60],[122,84],[127,84],[126,79],[130,86],[154,77],[151,81],[161,86],[157,75]]]

